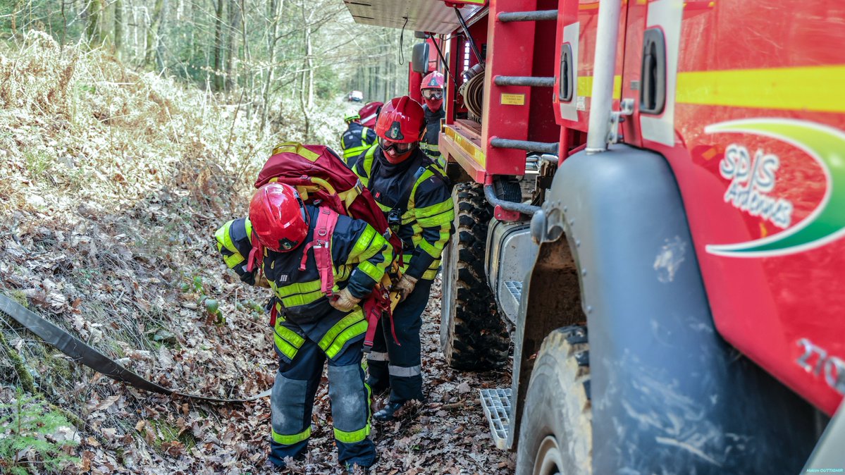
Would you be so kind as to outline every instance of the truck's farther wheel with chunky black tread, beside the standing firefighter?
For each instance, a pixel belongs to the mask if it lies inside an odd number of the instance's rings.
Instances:
[[[478,183],[458,183],[452,199],[455,235],[444,249],[440,347],[452,368],[499,368],[510,338],[484,274],[492,210]]]

